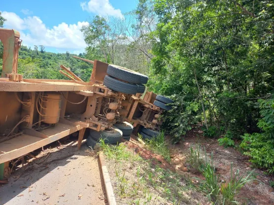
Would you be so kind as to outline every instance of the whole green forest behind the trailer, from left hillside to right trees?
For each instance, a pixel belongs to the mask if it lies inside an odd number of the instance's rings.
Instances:
[[[174,142],[202,122],[204,136],[274,173],[272,0],[139,0],[123,19],[95,16],[81,31],[79,56],[147,74],[150,90],[175,100],[164,114]],[[18,71],[61,79],[60,64],[86,81],[92,70],[68,52],[22,46]]]

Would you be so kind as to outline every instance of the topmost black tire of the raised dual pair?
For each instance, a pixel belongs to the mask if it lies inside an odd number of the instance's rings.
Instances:
[[[116,65],[109,65],[107,73],[120,80],[127,81],[129,83],[146,84],[149,77],[139,72],[122,68]]]

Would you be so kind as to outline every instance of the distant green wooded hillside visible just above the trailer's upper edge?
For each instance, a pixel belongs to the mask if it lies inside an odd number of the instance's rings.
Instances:
[[[59,72],[60,65],[63,64],[71,68],[82,80],[89,81],[93,65],[77,60],[72,57],[73,55],[69,52],[63,54],[46,52],[42,45],[40,45],[40,51],[38,46],[32,50],[22,45],[19,50],[18,73],[22,74],[24,78],[68,79]],[[85,54],[79,56],[85,58]]]

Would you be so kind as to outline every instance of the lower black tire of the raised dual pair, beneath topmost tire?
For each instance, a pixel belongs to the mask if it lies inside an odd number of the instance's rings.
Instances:
[[[105,76],[104,85],[120,93],[135,95],[138,92],[138,86],[136,84],[122,82],[109,75]]]

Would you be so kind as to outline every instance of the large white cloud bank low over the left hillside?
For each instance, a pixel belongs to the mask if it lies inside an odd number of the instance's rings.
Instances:
[[[70,25],[63,22],[53,28],[47,28],[38,16],[21,19],[17,14],[6,11],[2,12],[2,16],[7,19],[4,28],[18,30],[24,45],[43,45],[73,50],[83,50],[86,47],[80,29],[88,25],[88,22]]]

